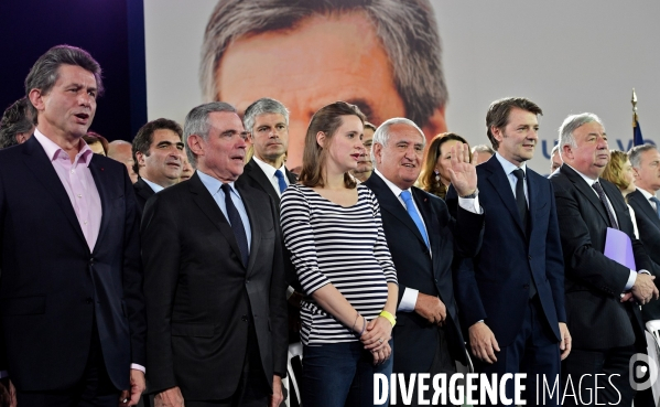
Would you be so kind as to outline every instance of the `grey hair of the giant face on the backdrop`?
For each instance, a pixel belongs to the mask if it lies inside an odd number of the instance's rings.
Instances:
[[[216,71],[229,44],[246,34],[295,28],[313,15],[364,11],[392,64],[405,116],[426,125],[447,101],[442,46],[429,0],[219,0],[206,25],[199,84],[205,100],[218,100]]]

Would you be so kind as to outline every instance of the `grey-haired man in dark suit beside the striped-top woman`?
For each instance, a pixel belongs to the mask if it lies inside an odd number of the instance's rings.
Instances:
[[[197,171],[144,207],[147,349],[156,406],[282,401],[282,242],[273,201],[235,184],[246,139],[230,105],[191,110],[184,142]]]

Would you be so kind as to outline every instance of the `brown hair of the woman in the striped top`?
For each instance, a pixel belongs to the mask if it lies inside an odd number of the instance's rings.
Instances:
[[[324,149],[316,141],[316,135],[321,131],[325,133],[326,139],[332,143],[332,138],[337,132],[337,129],[344,124],[342,116],[357,116],[363,126],[366,117],[360,109],[347,104],[346,101],[335,101],[318,109],[312,116],[307,135],[305,136],[305,149],[303,151],[303,168],[300,172],[299,181],[310,188],[324,186],[323,169],[327,159],[327,144]],[[344,174],[344,184],[346,188],[355,188],[357,185],[355,179],[348,174]]]

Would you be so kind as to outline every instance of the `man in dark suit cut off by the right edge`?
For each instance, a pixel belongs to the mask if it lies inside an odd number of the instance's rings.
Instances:
[[[634,147],[628,153],[637,190],[626,197],[635,211],[639,239],[660,272],[660,152],[653,144]],[[656,282],[658,285],[658,282]],[[660,301],[651,301],[641,308],[645,322],[660,320]]]

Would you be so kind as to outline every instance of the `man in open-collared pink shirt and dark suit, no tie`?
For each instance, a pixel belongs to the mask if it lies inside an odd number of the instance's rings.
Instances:
[[[136,201],[125,167],[82,140],[100,66],[58,45],[25,90],[34,137],[0,151],[0,375],[19,406],[134,405],[145,365]]]

